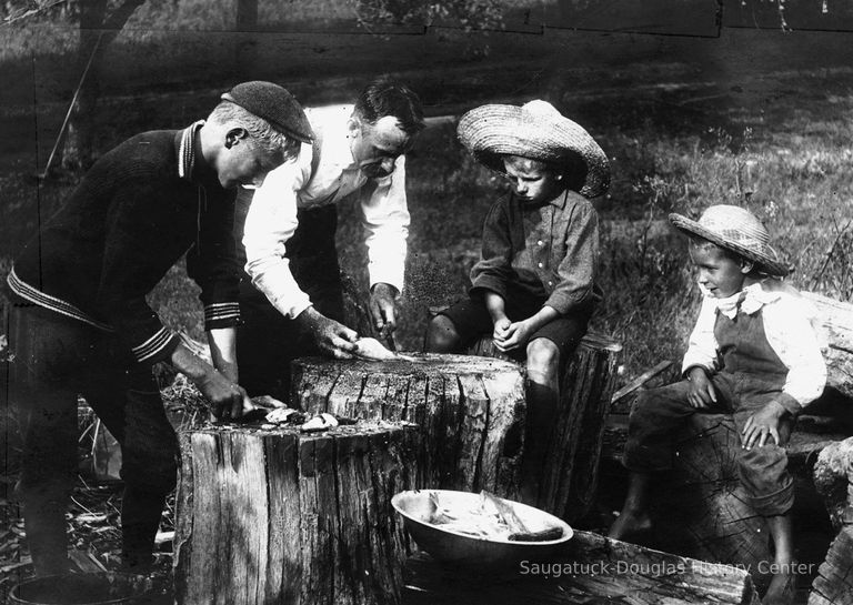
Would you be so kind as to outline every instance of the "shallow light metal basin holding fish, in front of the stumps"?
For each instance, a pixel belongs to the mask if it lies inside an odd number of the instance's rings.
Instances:
[[[562,537],[548,542],[514,542],[502,538],[475,537],[442,525],[431,518],[430,494],[435,494],[443,508],[470,511],[478,506],[480,494],[450,490],[414,490],[401,492],[391,498],[391,505],[403,517],[409,534],[418,546],[435,559],[462,565],[468,568],[488,569],[518,565],[522,561],[542,561],[556,555],[571,540],[573,532],[568,523],[544,511],[505,501],[531,532],[560,527]]]

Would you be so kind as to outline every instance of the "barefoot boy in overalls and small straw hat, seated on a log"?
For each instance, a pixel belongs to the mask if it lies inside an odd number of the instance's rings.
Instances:
[[[794,492],[784,446],[793,419],[821,395],[826,381],[811,313],[796,291],[776,279],[787,269],[749,211],[713,205],[699,221],[680,214],[670,221],[690,238],[705,298],[684,355],[684,380],[643,392],[631,412],[623,458],[631,481],[610,536],[622,540],[651,530],[650,480],[671,467],[679,426],[695,413],[733,414],[741,490],[766,518],[775,548],[777,573],[763,602],[790,603]]]

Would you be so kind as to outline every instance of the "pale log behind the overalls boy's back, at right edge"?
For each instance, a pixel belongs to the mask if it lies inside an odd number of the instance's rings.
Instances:
[[[802,292],[803,298],[817,307],[826,337],[823,350],[826,360],[826,386],[853,399],[853,304]]]

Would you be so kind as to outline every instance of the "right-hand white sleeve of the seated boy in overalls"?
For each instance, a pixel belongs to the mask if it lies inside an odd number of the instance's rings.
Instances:
[[[793,414],[820,397],[826,384],[826,363],[810,321],[812,312],[805,301],[791,295],[763,307],[767,342],[787,367],[781,403]]]

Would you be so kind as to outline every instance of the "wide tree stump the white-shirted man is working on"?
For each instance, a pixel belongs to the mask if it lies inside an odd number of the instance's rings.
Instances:
[[[413,360],[297,360],[291,401],[310,413],[419,426],[424,483],[417,487],[489,490],[515,498],[524,427],[521,369],[462,355]]]

